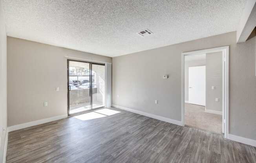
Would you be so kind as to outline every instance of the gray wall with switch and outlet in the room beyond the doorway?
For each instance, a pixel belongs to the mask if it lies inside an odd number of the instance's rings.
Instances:
[[[215,86],[215,89],[212,89]],[[222,111],[222,53],[206,54],[205,109]],[[215,98],[219,98],[216,102]]]

